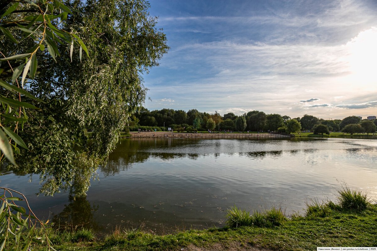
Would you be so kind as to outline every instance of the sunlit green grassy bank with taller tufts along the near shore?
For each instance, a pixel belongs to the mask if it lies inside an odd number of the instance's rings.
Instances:
[[[313,201],[304,216],[287,219],[280,208],[249,213],[232,207],[227,227],[169,235],[117,230],[95,240],[89,230],[51,233],[57,250],[316,250],[317,246],[377,246],[377,205],[365,194],[343,189],[336,203]],[[183,249],[182,249],[183,248]],[[35,246],[33,250],[44,250]]]

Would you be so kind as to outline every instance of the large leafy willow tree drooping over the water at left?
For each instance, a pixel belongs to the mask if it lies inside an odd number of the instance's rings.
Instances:
[[[8,2],[11,6],[16,1]],[[46,38],[46,47],[35,51],[37,70],[33,76],[20,76],[25,77],[25,90],[38,98],[29,101],[40,109],[27,111],[27,123],[18,135],[29,150],[19,149],[15,159],[20,169],[40,175],[44,182],[41,192],[46,194],[72,184],[78,188],[76,192],[86,192],[98,160],[112,151],[119,130],[145,100],[142,74],[157,66],[169,49],[144,0],[75,0],[65,4],[76,12],[64,12],[63,18],[51,20],[52,34]],[[27,23],[12,26],[12,18],[34,15],[36,6],[18,6],[14,16],[9,16],[9,25],[4,27],[12,37],[29,29]],[[52,9],[52,15],[60,14],[59,8]],[[64,43],[64,34],[60,36],[55,29],[72,34],[74,39]],[[24,36],[21,43],[14,43],[9,34],[1,40],[0,50],[6,57],[35,45],[32,36]],[[5,64],[1,67],[2,79],[11,84],[11,69]],[[17,99],[15,93],[6,95]],[[88,131],[92,132],[90,140]]]

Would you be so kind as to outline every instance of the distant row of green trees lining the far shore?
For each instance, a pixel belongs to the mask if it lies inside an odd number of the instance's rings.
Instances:
[[[175,131],[254,131],[294,133],[298,131],[313,131],[316,134],[329,134],[331,131],[348,132],[351,134],[376,131],[377,120],[361,120],[356,116],[349,116],[342,120],[324,120],[305,114],[303,117],[291,118],[280,114],[266,114],[263,111],[249,111],[240,116],[226,113],[223,116],[215,113],[199,112],[191,109],[149,111],[140,107],[131,119],[127,129],[137,131],[137,128],[156,128],[158,131],[173,128]],[[166,130],[166,129],[165,129]]]

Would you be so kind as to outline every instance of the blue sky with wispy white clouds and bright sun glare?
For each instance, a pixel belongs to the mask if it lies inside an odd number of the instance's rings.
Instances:
[[[146,108],[377,115],[377,1],[150,0],[170,51]]]

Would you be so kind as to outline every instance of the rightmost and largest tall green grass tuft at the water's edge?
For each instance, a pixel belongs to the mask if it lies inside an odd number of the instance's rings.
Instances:
[[[368,205],[370,205],[365,192],[343,187],[341,190],[338,190],[338,193],[338,202],[340,206],[346,210],[362,211],[365,210]]]

